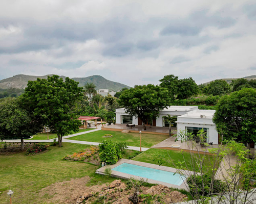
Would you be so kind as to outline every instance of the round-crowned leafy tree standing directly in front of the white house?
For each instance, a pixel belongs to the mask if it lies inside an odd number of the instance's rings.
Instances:
[[[160,110],[171,103],[168,90],[152,84],[135,86],[123,91],[120,96],[120,104],[125,111],[142,120],[144,130],[145,122],[156,118]]]

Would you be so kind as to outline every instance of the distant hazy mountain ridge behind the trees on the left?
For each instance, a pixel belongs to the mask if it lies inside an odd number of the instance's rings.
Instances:
[[[48,74],[44,76],[32,76],[26,74],[18,74],[13,77],[4,79],[0,81],[0,88],[8,89],[8,88],[17,88],[17,89],[25,89],[27,87],[28,81],[35,81],[37,78],[39,79],[47,79],[48,76],[52,76],[53,74]],[[62,79],[66,79],[65,76],[60,76]],[[93,82],[96,85],[96,90],[98,89],[109,89],[109,91],[118,91],[122,88],[130,88],[127,85],[112,82],[110,80],[106,80],[100,75],[92,75],[86,78],[72,78],[74,81],[79,82],[80,87],[84,86],[87,82]]]

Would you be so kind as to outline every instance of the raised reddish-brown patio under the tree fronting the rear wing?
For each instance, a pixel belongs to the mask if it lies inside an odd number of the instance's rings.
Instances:
[[[139,133],[140,131],[142,133],[147,134],[160,134],[160,135],[169,135],[169,128],[168,127],[157,127],[157,126],[147,126],[146,130],[144,131],[143,125],[135,125],[135,126],[126,126],[126,124],[112,124],[112,125],[106,125],[101,128],[101,130],[106,131],[120,131],[120,132],[131,132],[131,133]],[[172,135],[177,133],[177,129],[172,129]]]

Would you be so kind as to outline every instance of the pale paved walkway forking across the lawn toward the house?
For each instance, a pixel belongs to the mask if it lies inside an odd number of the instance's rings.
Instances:
[[[95,130],[91,130],[91,131],[86,131],[86,132],[81,132],[81,133],[75,133],[73,135],[67,135],[62,137],[62,142],[69,142],[69,143],[76,143],[76,144],[88,144],[88,145],[96,145],[98,146],[100,143],[99,142],[87,142],[87,141],[79,141],[79,140],[67,140],[67,138],[70,137],[75,137],[78,135],[83,135],[83,134],[87,134],[87,133],[92,133],[92,132],[96,132],[96,131],[100,131],[101,128],[95,129]],[[58,138],[56,138],[56,142],[58,141]],[[20,142],[19,140],[4,140],[4,142]],[[25,139],[24,142],[53,142],[53,139],[49,139],[49,140],[29,140],[29,139]],[[135,146],[128,146],[128,149],[130,150],[140,150],[140,147],[135,147]],[[149,148],[145,148],[145,147],[141,147],[141,151],[146,151]]]

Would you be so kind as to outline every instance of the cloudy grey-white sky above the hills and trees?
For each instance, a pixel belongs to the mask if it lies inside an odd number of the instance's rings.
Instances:
[[[1,0],[0,80],[52,73],[132,87],[256,75],[256,1]]]

